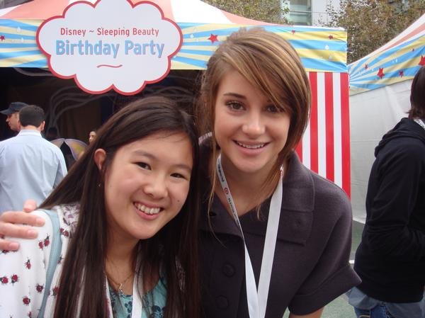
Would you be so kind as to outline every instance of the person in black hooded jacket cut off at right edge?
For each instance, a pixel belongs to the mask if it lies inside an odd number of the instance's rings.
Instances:
[[[350,303],[358,317],[425,317],[425,67],[412,108],[375,148]]]

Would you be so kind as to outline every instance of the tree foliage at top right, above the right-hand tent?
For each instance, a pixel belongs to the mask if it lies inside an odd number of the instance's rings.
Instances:
[[[330,22],[324,24],[347,30],[348,63],[381,47],[425,13],[425,0],[389,2],[341,0],[339,9],[328,6]]]

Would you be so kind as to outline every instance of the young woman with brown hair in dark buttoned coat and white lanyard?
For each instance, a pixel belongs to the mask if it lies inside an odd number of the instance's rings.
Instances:
[[[199,103],[205,317],[320,317],[359,280],[346,194],[294,152],[310,112],[299,57],[279,35],[239,30],[208,61]]]

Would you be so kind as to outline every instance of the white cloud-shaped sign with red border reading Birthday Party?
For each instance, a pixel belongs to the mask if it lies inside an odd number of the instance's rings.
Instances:
[[[181,30],[157,4],[127,0],[79,1],[37,32],[49,68],[74,78],[89,93],[132,95],[163,79],[181,47]]]

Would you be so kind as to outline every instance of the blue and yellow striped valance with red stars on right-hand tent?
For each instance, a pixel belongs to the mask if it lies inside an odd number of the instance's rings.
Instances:
[[[348,65],[350,95],[413,79],[425,65],[425,14],[378,50]]]

